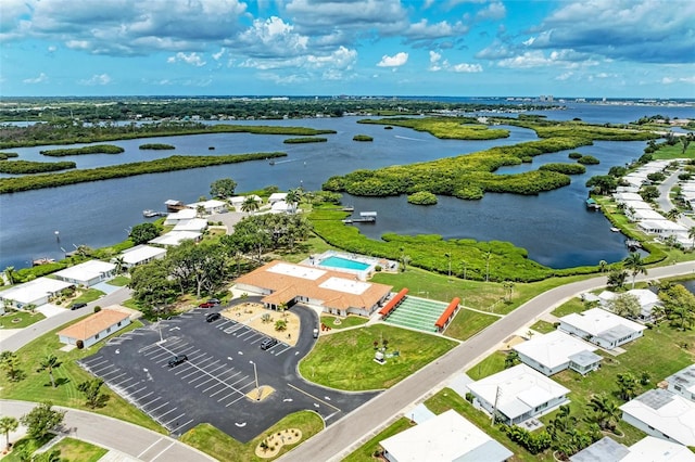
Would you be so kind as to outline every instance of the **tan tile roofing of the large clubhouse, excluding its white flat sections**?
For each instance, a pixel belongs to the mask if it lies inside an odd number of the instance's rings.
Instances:
[[[334,291],[331,288],[320,287],[320,285],[331,278],[340,278],[350,281],[353,280],[354,277],[344,272],[330,271],[323,268],[320,268],[320,271],[324,272],[324,274],[315,280],[268,271],[274,266],[280,264],[311,268],[312,270],[317,269],[314,267],[286,264],[285,261],[275,260],[248,274],[242,275],[241,278],[237,279],[237,283],[271,290],[273,293],[267,295],[263,299],[263,301],[274,305],[288,303],[295,296],[301,295],[304,297],[323,300],[324,306],[326,307],[339,309],[348,309],[351,307],[370,308],[376,305],[384,295],[389,294],[392,288],[391,285],[369,282],[367,283],[368,288],[362,294],[351,294],[346,292]]]

